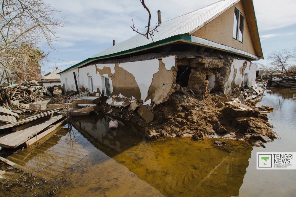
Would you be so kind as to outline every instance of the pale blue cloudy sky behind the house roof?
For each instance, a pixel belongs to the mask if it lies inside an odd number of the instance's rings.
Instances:
[[[210,5],[218,0],[146,0],[152,14],[152,26],[157,23],[157,10],[162,21]],[[60,10],[56,17],[65,17],[67,24],[56,30],[60,39],[54,41],[42,73],[55,67],[65,70],[77,62],[136,35],[135,26],[145,31],[147,12],[139,0],[45,0]],[[273,51],[296,48],[296,1],[253,0],[264,57]],[[260,61],[267,64],[266,60]]]

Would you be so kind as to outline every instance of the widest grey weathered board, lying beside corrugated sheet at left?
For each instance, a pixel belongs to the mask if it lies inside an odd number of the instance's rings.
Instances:
[[[0,146],[6,147],[6,148],[16,148],[17,146],[20,146],[21,144],[25,143],[33,136],[36,136],[37,133],[39,133],[49,125],[52,125],[54,122],[58,121],[64,116],[65,116],[64,114],[57,115],[52,118],[49,118],[48,120],[41,121],[37,125],[27,127],[18,132],[9,133],[0,138]]]

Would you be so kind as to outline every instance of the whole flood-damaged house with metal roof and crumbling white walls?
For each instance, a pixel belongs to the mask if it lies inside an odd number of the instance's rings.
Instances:
[[[162,22],[154,36],[114,45],[60,73],[65,91],[159,104],[179,84],[199,96],[255,85],[263,58],[252,0],[223,0]]]

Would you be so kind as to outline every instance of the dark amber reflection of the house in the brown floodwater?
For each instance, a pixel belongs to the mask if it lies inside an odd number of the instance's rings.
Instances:
[[[146,142],[143,132],[120,127],[109,130],[109,118],[73,123],[91,143],[165,196],[235,196],[242,185],[252,147],[227,140],[163,138]],[[94,140],[96,139],[96,140]],[[198,193],[198,195],[197,195]]]

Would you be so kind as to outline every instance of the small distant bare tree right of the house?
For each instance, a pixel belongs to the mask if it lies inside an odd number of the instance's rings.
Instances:
[[[268,55],[270,61],[270,68],[281,73],[288,73],[288,70],[293,66],[293,53],[291,50],[284,49],[279,52],[273,52]]]

